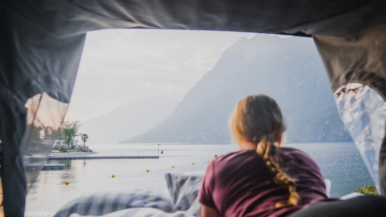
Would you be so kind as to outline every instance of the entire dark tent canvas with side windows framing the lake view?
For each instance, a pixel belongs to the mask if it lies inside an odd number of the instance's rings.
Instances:
[[[368,147],[363,145],[366,148],[361,154],[369,163],[367,168],[371,163],[379,164],[370,173],[373,179],[378,177],[374,181],[379,183],[380,192],[386,193],[386,145],[382,145],[386,121],[382,116],[386,96],[385,1],[4,0],[0,5],[0,163],[6,216],[24,214],[27,186],[36,176],[36,172],[25,173],[24,156],[47,154],[58,136],[86,32],[109,28],[314,37],[350,134],[367,129],[364,136],[353,136],[354,142],[360,147],[364,141],[372,141]],[[349,105],[356,105],[358,110],[350,110]],[[350,112],[357,111],[362,115],[354,122]],[[46,133],[44,139],[39,138],[39,127],[48,125],[52,129],[49,136]],[[373,134],[368,129],[381,132]]]

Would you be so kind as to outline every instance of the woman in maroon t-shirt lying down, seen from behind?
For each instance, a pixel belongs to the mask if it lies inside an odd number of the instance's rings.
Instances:
[[[285,127],[272,98],[252,95],[241,100],[231,130],[240,151],[208,165],[199,194],[203,217],[286,216],[329,200],[312,158],[280,147]]]

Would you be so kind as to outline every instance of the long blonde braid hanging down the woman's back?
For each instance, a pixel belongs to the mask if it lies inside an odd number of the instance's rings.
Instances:
[[[273,180],[276,184],[288,187],[289,198],[287,203],[276,203],[275,207],[288,207],[297,205],[300,196],[296,193],[295,180],[290,178],[286,173],[281,171],[278,165],[278,160],[275,155],[276,146],[271,135],[265,135],[257,144],[256,153],[261,156],[269,172],[274,176]]]

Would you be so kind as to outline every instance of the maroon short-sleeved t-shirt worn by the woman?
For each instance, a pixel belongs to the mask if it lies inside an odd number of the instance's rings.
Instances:
[[[318,165],[307,154],[293,148],[277,148],[281,168],[296,180],[301,197],[296,206],[275,208],[288,201],[288,188],[273,181],[255,150],[241,150],[221,156],[207,168],[198,201],[225,217],[286,216],[321,200],[328,200]]]

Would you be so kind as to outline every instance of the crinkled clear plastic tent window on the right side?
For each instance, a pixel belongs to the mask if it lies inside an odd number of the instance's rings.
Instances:
[[[378,192],[384,193],[386,183],[384,178],[379,177],[379,155],[386,130],[385,100],[374,89],[360,83],[343,85],[335,91],[334,97],[339,115],[361,153]]]

